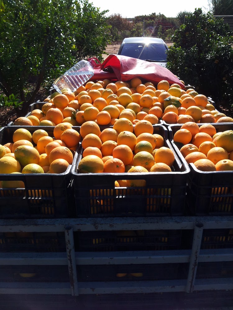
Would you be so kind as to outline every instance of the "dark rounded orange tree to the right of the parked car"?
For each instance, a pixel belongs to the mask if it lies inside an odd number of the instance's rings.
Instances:
[[[173,36],[167,68],[199,93],[233,104],[233,37],[222,19],[201,9],[185,16]]]

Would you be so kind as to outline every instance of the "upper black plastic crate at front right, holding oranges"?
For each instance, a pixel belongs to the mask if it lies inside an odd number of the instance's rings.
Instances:
[[[202,124],[198,124],[201,126]],[[212,124],[217,132],[232,130],[233,123]],[[173,135],[180,124],[168,127],[169,139],[176,153],[181,157],[179,143]],[[183,157],[184,158],[184,157]],[[187,209],[190,215],[232,215],[233,178],[232,171],[200,171],[193,163],[189,164],[187,187]]]

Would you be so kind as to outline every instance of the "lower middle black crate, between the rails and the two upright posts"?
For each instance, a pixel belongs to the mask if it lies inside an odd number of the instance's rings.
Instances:
[[[76,251],[146,251],[181,249],[181,230],[77,232]]]

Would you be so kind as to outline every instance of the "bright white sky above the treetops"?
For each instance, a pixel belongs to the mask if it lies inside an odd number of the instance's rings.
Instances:
[[[94,7],[98,7],[100,11],[109,10],[106,16],[119,13],[122,17],[126,18],[139,15],[150,15],[152,13],[161,13],[166,17],[176,17],[180,11],[194,12],[195,8],[199,7],[202,8],[203,12],[207,12],[209,10],[208,0],[166,0],[165,2],[158,0],[147,0],[144,3],[141,1],[139,2],[139,0],[89,0],[89,2],[92,2]]]

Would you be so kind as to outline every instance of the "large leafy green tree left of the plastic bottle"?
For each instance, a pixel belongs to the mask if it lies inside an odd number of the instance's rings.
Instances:
[[[108,43],[104,14],[88,0],[0,1],[0,91],[18,95],[21,113],[41,86]]]

